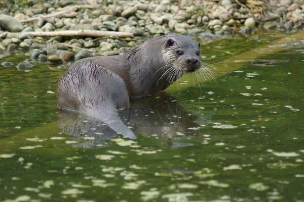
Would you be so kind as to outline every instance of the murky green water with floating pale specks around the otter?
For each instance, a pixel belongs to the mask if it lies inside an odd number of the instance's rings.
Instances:
[[[0,201],[304,201],[304,45],[283,37],[202,45],[216,82],[132,102],[135,140],[57,111],[63,66],[0,54]]]

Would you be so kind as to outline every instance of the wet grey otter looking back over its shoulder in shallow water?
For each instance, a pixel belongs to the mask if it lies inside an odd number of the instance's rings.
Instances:
[[[97,118],[118,134],[136,135],[119,118],[130,99],[157,94],[183,74],[201,68],[200,43],[180,34],[145,41],[119,56],[76,61],[57,85],[59,109]]]

